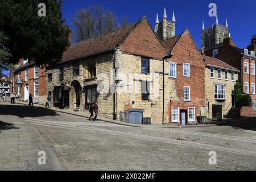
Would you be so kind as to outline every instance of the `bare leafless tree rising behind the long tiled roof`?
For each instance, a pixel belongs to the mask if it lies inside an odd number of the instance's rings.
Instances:
[[[106,34],[118,27],[125,26],[128,19],[125,17],[119,22],[117,16],[112,11],[104,9],[103,6],[95,5],[89,6],[86,9],[82,7],[80,10],[77,10],[72,18],[72,22],[75,27],[73,37],[76,42],[81,42],[82,40]]]

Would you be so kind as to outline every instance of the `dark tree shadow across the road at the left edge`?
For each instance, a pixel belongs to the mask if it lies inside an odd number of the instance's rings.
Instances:
[[[59,115],[56,111],[39,107],[28,107],[22,105],[0,105],[0,115],[16,115],[24,117],[43,117]]]

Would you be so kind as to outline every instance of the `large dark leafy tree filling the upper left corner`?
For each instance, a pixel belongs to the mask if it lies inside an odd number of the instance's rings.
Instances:
[[[7,48],[16,64],[25,57],[37,64],[54,64],[69,46],[69,28],[61,18],[61,2],[42,0],[46,16],[38,15],[38,0],[0,1],[0,31],[9,37]]]

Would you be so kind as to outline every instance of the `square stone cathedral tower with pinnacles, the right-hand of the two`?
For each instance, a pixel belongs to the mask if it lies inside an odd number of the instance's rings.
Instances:
[[[218,16],[216,16],[216,23],[205,29],[204,22],[201,32],[201,50],[203,52],[209,49],[214,49],[219,44],[223,43],[223,40],[230,37],[228,20],[226,20],[226,25],[222,26],[218,23]]]

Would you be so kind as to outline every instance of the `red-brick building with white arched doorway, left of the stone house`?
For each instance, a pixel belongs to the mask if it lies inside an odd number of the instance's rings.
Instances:
[[[14,72],[14,90],[19,100],[28,101],[32,94],[34,103],[44,105],[47,101],[46,68],[20,59]],[[13,88],[11,88],[13,90]]]

